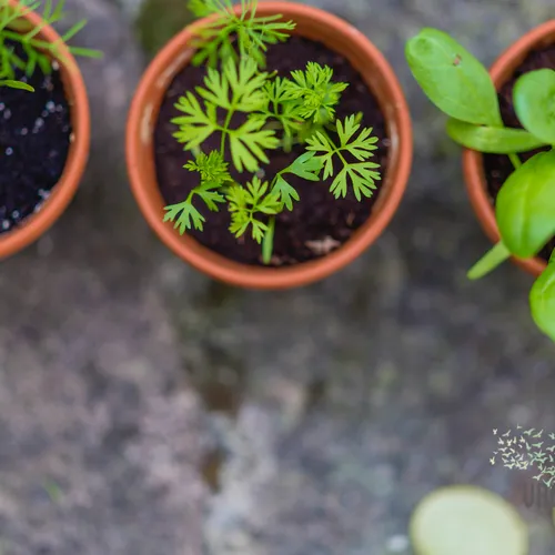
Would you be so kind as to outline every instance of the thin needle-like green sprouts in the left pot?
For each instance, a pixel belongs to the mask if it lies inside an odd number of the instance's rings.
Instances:
[[[34,89],[23,81],[16,79],[16,71],[23,71],[27,77],[31,77],[37,67],[44,74],[50,74],[52,60],[65,62],[61,52],[61,44],[72,39],[87,21],[82,20],[71,27],[61,36],[61,41],[48,42],[37,38],[43,27],[53,24],[62,20],[65,16],[63,11],[64,0],[60,0],[56,6],[52,0],[19,0],[17,7],[11,7],[8,0],[0,0],[0,87],[11,87],[33,92]],[[22,17],[31,11],[39,12],[42,18],[40,26],[33,27]],[[24,57],[19,56],[10,43],[21,44]],[[88,48],[68,47],[74,56],[89,58],[100,58],[101,53]]]

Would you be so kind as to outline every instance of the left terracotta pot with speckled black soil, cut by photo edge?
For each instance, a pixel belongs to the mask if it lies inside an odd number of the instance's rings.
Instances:
[[[11,7],[17,7],[16,0],[9,0]],[[43,24],[42,19],[34,12],[23,14],[33,28]],[[44,26],[38,38],[48,42],[60,41],[60,36],[49,26]],[[39,239],[62,214],[79,186],[81,175],[89,157],[90,115],[89,100],[83,78],[74,58],[64,46],[60,47],[65,63],[60,63],[61,78],[65,90],[65,98],[71,110],[72,142],[65,161],[65,168],[58,183],[52,188],[50,196],[41,209],[26,218],[20,225],[0,235],[0,259],[21,251]],[[26,94],[33,94],[27,92]]]

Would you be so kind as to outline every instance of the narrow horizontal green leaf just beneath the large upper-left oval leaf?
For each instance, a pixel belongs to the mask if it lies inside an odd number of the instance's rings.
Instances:
[[[527,152],[546,144],[524,129],[475,125],[453,118],[447,121],[447,134],[467,149],[492,154]]]

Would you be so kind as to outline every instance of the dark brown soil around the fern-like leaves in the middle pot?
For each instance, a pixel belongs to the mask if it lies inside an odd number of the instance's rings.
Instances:
[[[337,118],[356,112],[364,114],[362,124],[373,128],[373,135],[379,138],[379,149],[371,161],[380,164],[382,180],[375,182],[376,189],[370,199],[359,202],[351,190],[345,199],[335,200],[330,193],[332,179],[311,182],[287,175],[287,181],[296,189],[301,200],[293,204],[293,211],[285,210],[276,216],[271,265],[291,265],[313,260],[341,246],[369,218],[385,178],[389,138],[384,117],[376,99],[349,61],[322,43],[299,37],[270,47],[268,51],[269,70],[275,70],[282,77],[289,77],[292,70],[305,69],[309,61],[327,64],[333,69],[334,81],[350,83],[342,94],[336,114]],[[183,145],[172,137],[178,128],[170,120],[180,114],[174,108],[178,99],[185,91],[193,91],[194,87],[201,85],[204,75],[205,69],[202,67],[185,68],[168,88],[161,105],[154,131],[154,155],[160,191],[168,204],[182,202],[191,189],[199,184],[196,174],[183,169],[192,154],[184,152]],[[203,150],[209,152],[219,148],[220,135],[214,134]],[[290,153],[275,151],[270,164],[263,168],[264,180],[271,181],[278,171],[290,165],[303,152],[303,147]],[[245,175],[235,173],[234,178],[244,183]],[[229,231],[230,214],[225,205],[222,204],[219,212],[210,212],[202,201],[195,206],[206,219],[202,232],[188,231],[196,241],[228,259],[245,264],[262,264],[261,245],[251,239],[250,231],[240,239]]]

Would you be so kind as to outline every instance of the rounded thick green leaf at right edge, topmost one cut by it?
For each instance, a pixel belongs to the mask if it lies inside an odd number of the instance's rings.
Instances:
[[[555,144],[555,71],[525,73],[515,83],[513,103],[522,125],[548,144]]]

